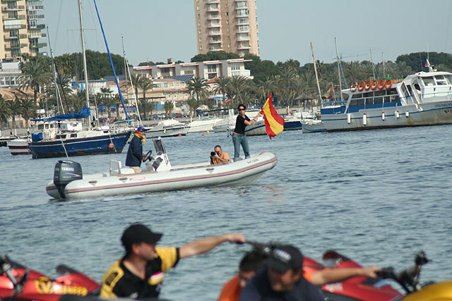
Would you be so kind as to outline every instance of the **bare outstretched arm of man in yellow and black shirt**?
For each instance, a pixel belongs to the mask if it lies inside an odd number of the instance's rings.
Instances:
[[[185,258],[203,254],[227,241],[244,243],[245,235],[241,233],[229,233],[220,236],[211,236],[210,238],[203,238],[201,240],[195,240],[194,242],[190,242],[189,244],[179,247],[179,257]]]

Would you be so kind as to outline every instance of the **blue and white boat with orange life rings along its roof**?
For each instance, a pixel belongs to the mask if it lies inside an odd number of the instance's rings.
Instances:
[[[342,91],[345,104],[321,109],[322,125],[305,130],[372,130],[452,123],[452,73],[433,70],[403,80],[368,80]],[[305,129],[306,128],[306,129]],[[319,131],[319,130],[316,130]]]

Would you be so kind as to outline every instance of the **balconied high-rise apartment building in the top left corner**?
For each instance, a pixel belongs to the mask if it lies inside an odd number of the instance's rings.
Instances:
[[[47,37],[41,32],[45,25],[38,24],[44,20],[44,0],[0,1],[0,59],[16,58],[22,54],[37,56],[40,48],[47,47],[47,43],[39,42],[40,38]]]

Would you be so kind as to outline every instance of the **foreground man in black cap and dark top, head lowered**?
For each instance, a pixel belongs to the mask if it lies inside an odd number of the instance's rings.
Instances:
[[[323,301],[319,288],[303,277],[303,255],[292,245],[275,248],[240,294],[241,301]]]

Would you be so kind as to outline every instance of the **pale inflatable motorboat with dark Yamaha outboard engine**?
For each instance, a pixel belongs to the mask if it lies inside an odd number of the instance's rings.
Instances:
[[[54,168],[54,180],[47,184],[47,195],[55,199],[81,199],[111,195],[182,190],[218,185],[249,185],[265,171],[273,168],[278,159],[272,152],[252,154],[230,164],[212,165],[208,161],[172,166],[162,140],[153,140],[156,155],[146,154],[143,161],[147,171],[133,169],[111,160],[109,171],[83,175],[81,164],[60,160]]]

